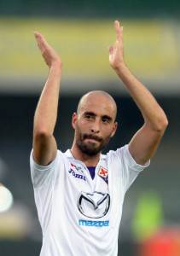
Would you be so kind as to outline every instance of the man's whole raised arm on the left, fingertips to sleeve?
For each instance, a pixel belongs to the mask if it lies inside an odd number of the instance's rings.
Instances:
[[[53,133],[57,118],[62,64],[59,55],[39,32],[35,32],[35,38],[49,67],[49,76],[34,116],[33,158],[39,165],[47,166],[55,159],[57,150]]]

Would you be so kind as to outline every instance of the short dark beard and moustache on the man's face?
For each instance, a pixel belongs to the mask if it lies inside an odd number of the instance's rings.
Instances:
[[[87,139],[92,139],[94,141],[87,142]],[[93,134],[78,133],[77,146],[80,151],[89,156],[94,156],[105,148],[110,140],[110,136],[106,138],[97,137]]]

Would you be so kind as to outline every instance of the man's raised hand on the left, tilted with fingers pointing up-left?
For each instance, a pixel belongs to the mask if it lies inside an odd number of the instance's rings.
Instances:
[[[55,52],[55,49],[53,49],[48,42],[45,40],[44,36],[39,32],[34,32],[34,36],[36,38],[38,48],[40,49],[44,61],[48,65],[48,67],[53,66],[62,66],[61,58],[60,56]]]

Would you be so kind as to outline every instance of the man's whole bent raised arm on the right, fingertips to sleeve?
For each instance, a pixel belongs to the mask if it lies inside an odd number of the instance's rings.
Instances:
[[[168,122],[154,96],[126,67],[123,58],[123,27],[119,26],[117,20],[114,26],[117,38],[109,48],[109,62],[142,113],[144,124],[132,137],[129,150],[136,163],[144,165],[158,148]]]

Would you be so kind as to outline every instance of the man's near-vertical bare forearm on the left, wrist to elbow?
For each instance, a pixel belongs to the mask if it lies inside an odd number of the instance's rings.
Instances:
[[[34,116],[34,133],[53,135],[61,82],[61,65],[49,68],[49,77],[38,101]]]

